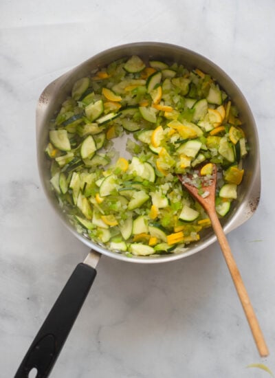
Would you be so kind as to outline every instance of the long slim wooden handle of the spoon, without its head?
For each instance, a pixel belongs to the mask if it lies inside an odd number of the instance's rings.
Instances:
[[[243,284],[241,274],[239,272],[238,267],[236,266],[234,256],[232,255],[230,246],[228,244],[228,240],[223,232],[223,228],[221,227],[221,223],[219,221],[217,213],[215,211],[211,211],[208,212],[208,215],[210,217],[214,233],[216,234],[217,239],[219,241],[219,245],[221,246],[221,250],[223,252],[225,262],[228,265],[228,269],[230,271],[232,280],[236,287],[236,291],[241,300],[241,304],[243,306],[243,310],[245,311],[246,318],[248,319],[248,324],[250,325],[250,329],[252,331],[252,335],[254,337],[259,354],[261,355],[261,357],[266,357],[267,355],[269,355],[267,344],[265,344],[265,339],[259,326],[259,322],[254,313],[252,304],[250,303],[248,292],[246,291],[245,285]]]

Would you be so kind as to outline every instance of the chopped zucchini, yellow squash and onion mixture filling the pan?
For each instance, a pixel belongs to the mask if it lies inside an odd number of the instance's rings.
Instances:
[[[210,179],[217,164],[216,209],[225,216],[248,151],[238,111],[214,78],[139,56],[76,81],[49,140],[50,182],[70,221],[126,256],[175,253],[198,241],[210,220],[177,174],[191,173],[206,197],[201,176]]]

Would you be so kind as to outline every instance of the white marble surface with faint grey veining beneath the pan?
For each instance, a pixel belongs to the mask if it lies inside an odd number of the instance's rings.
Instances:
[[[164,41],[210,58],[239,85],[259,129],[256,214],[228,236],[270,357],[261,359],[217,245],[165,265],[102,257],[53,378],[261,378],[275,372],[275,3],[0,2],[0,377],[12,377],[87,254],[56,218],[36,167],[43,88],[113,45]]]

